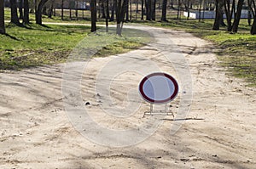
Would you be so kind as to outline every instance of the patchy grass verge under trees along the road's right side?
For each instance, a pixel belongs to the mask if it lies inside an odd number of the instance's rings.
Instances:
[[[168,22],[143,22],[138,23],[172,28],[187,31],[196,37],[211,41],[217,48],[218,59],[221,65],[228,68],[236,77],[244,78],[248,86],[256,87],[256,36],[250,35],[250,26],[247,20],[241,20],[238,33],[230,34],[221,27],[220,31],[212,31],[213,20],[169,20]]]

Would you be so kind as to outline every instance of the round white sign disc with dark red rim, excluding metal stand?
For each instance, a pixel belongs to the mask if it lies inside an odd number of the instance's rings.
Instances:
[[[139,92],[149,103],[166,104],[177,96],[178,85],[172,76],[157,72],[143,78]]]

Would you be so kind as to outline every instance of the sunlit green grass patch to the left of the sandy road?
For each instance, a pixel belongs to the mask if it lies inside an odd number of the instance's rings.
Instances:
[[[150,37],[144,31],[124,29],[124,36],[114,30],[90,34],[84,25],[7,25],[8,35],[0,35],[0,70],[20,70],[38,65],[67,61],[74,48],[84,45],[84,53],[94,50],[94,57],[122,54],[140,48]],[[81,43],[82,42],[82,43]]]

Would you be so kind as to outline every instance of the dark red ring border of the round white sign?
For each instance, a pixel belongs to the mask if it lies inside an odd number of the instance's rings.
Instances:
[[[171,97],[169,97],[168,99],[164,99],[164,100],[154,100],[154,99],[148,98],[148,96],[143,91],[143,85],[152,76],[166,76],[166,78],[170,79],[173,82],[174,93],[172,93]],[[171,75],[168,75],[163,72],[155,72],[155,73],[149,74],[148,76],[145,76],[143,78],[143,80],[139,84],[139,92],[142,95],[143,99],[145,99],[147,102],[149,102],[151,104],[166,104],[176,98],[177,93],[178,93],[178,85],[177,85],[177,81]]]

